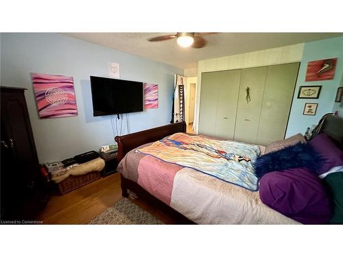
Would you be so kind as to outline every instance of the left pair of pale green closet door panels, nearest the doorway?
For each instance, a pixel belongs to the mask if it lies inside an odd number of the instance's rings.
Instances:
[[[233,139],[241,70],[202,73],[199,133]]]

